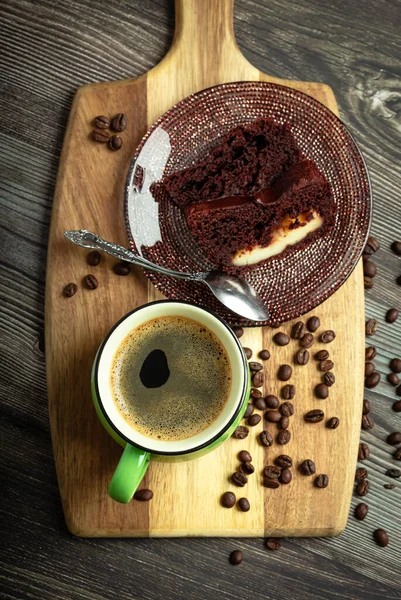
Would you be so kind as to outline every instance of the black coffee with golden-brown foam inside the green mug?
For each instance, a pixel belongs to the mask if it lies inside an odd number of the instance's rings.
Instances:
[[[192,437],[222,412],[231,390],[231,365],[218,338],[184,317],[160,317],[121,342],[111,387],[124,419],[166,441]]]

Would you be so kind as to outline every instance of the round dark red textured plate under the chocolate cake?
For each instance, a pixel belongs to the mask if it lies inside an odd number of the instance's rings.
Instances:
[[[134,252],[179,271],[209,271],[215,265],[202,254],[183,213],[153,182],[199,162],[220,136],[259,117],[291,124],[303,153],[330,181],[337,205],[331,234],[302,251],[257,266],[246,279],[281,323],[312,310],[333,294],[355,267],[368,235],[372,198],[369,175],[356,142],[323,104],[291,88],[260,82],[214,86],[188,96],[168,110],[142,139],[128,172],[125,220]],[[215,310],[231,323],[255,325],[218,302],[204,284],[147,272],[168,298]]]

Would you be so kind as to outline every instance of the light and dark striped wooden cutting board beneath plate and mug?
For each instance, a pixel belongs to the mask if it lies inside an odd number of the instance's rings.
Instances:
[[[361,265],[334,296],[314,314],[322,328],[337,337],[328,346],[335,362],[336,384],[325,401],[314,399],[320,381],[310,360],[294,367],[291,383],[297,388],[292,439],[287,446],[266,450],[257,442],[263,422],[245,441],[230,439],[197,461],[155,463],[144,486],[154,491],[151,502],[129,505],[113,502],[107,487],[121,448],[100,425],[90,394],[90,372],[96,349],[108,329],[122,315],[148,300],[161,298],[143,273],[129,277],[112,272],[113,260],[103,257],[88,267],[84,249],[63,238],[67,229],[86,228],[127,245],[123,219],[123,186],[131,156],[147,128],[171,105],[203,88],[224,82],[270,81],[301,90],[337,113],[332,90],[324,84],[279,80],[253,67],[240,53],[233,34],[233,0],[176,0],[176,33],[166,57],[136,79],[98,83],[80,88],[71,108],[60,161],[49,239],[46,288],[46,357],[49,413],[54,455],[65,519],[79,536],[322,536],[345,527],[352,492],[363,397],[364,297]],[[92,120],[98,114],[128,115],[123,147],[111,152],[91,141]],[[82,278],[96,275],[99,287],[84,289]],[[78,293],[64,298],[65,284],[75,281]],[[306,318],[306,316],[305,316]],[[290,331],[291,323],[281,330]],[[270,328],[253,328],[242,341],[254,352],[269,348],[266,393],[279,394],[275,378],[279,364],[292,363],[295,341],[278,348]],[[315,344],[312,350],[322,348]],[[303,414],[324,408],[340,426],[304,423]],[[274,432],[275,426],[268,426]],[[228,481],[237,469],[237,452],[253,456],[255,474],[248,485],[234,488]],[[261,485],[263,466],[280,453],[297,465],[305,458],[316,462],[317,473],[327,473],[326,489],[293,469],[293,481],[278,490]],[[220,495],[233,490],[246,496],[251,510],[227,510]]]

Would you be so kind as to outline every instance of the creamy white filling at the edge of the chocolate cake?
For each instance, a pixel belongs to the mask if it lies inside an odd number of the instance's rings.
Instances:
[[[277,256],[286,249],[287,246],[293,246],[303,240],[309,233],[315,231],[323,224],[323,217],[319,213],[313,211],[313,219],[306,221],[306,214],[298,216],[300,223],[305,223],[302,227],[290,229],[290,225],[296,219],[289,216],[284,217],[280,226],[273,232],[273,239],[268,246],[254,246],[252,249],[238,250],[233,256],[233,265],[237,267],[245,267],[254,265],[262,260]]]

